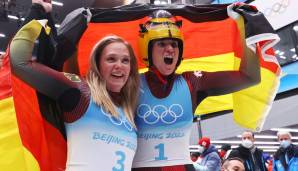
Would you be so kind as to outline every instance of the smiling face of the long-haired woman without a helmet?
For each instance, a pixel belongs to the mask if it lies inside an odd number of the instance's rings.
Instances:
[[[99,72],[112,92],[120,92],[130,73],[130,53],[121,42],[107,45],[100,56]]]

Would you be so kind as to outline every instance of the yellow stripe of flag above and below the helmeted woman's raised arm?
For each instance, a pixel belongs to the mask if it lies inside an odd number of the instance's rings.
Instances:
[[[183,60],[177,73],[184,71],[238,70],[240,59],[234,53]],[[145,71],[142,70],[142,71]],[[242,127],[259,130],[269,112],[279,78],[261,68],[261,82],[233,94],[206,98],[196,109],[196,115],[233,109],[234,120]],[[249,105],[248,105],[249,104]]]

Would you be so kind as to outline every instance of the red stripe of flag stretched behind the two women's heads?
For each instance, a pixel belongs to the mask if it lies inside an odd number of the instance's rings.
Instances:
[[[179,18],[179,17],[178,17]],[[241,54],[239,31],[236,23],[231,19],[222,21],[191,23],[183,20],[182,32],[184,33],[184,59],[207,57],[229,52]],[[90,23],[79,44],[79,67],[82,75],[86,74],[89,67],[89,56],[92,47],[102,37],[116,34],[132,44],[136,56],[138,52],[139,24],[143,19],[118,22],[118,23]],[[139,67],[145,66],[139,61]]]

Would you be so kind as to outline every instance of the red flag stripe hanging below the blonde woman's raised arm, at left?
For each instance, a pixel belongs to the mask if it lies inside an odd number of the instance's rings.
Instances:
[[[66,142],[56,128],[42,118],[35,90],[12,75],[13,97],[22,143],[42,171],[65,168]]]

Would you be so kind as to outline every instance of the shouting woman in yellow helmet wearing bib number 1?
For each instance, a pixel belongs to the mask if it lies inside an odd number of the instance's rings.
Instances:
[[[250,11],[248,5],[229,9],[263,18],[255,10]],[[133,171],[193,171],[189,139],[197,106],[208,96],[236,92],[260,81],[259,58],[248,48],[244,33],[240,34],[244,50],[239,71],[175,73],[183,59],[180,26],[165,10],[154,11],[140,25],[140,57],[149,70],[141,74],[135,117],[138,149]]]

